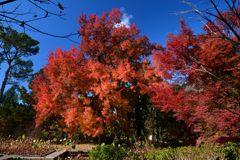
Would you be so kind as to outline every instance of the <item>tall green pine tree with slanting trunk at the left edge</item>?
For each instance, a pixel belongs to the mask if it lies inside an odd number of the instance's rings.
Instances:
[[[18,33],[11,27],[0,26],[0,64],[7,63],[8,67],[0,88],[0,104],[7,84],[15,80],[25,80],[32,73],[33,63],[26,60],[39,51],[39,42],[25,33]]]

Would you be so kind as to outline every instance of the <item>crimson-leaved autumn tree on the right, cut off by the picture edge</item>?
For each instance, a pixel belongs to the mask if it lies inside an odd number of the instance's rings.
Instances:
[[[221,16],[238,28],[239,21],[231,10],[222,12]],[[219,30],[209,22],[203,27],[203,33],[194,34],[180,20],[179,34],[169,34],[166,47],[154,53],[156,74],[187,85],[176,93],[170,84],[153,83],[152,101],[164,111],[176,112],[178,120],[204,134],[236,135],[240,127],[239,49],[221,37],[236,42],[238,39],[218,17],[212,23]]]

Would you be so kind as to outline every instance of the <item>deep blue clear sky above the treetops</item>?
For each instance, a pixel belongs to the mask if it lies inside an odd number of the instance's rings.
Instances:
[[[55,3],[60,2],[64,8],[62,11],[63,16],[66,20],[62,20],[58,17],[51,16],[46,19],[33,21],[30,24],[41,31],[55,34],[55,35],[67,35],[75,33],[79,29],[77,20],[81,12],[90,14],[102,15],[103,12],[110,12],[113,8],[120,8],[123,12],[122,21],[125,24],[136,23],[139,26],[142,35],[146,34],[151,42],[157,42],[164,46],[164,41],[167,40],[166,36],[168,33],[177,33],[179,31],[178,20],[183,16],[195,32],[200,32],[200,28],[203,24],[196,20],[196,14],[187,13],[183,15],[172,14],[175,11],[186,11],[191,9],[187,4],[181,3],[180,0],[52,0]],[[25,0],[18,0],[11,4],[5,5],[5,9],[10,10],[15,6],[22,3],[18,11],[29,11],[34,14],[29,15],[27,18],[32,19],[36,14],[44,16],[45,12],[37,10],[31,3]],[[199,3],[198,0],[192,0],[192,3]],[[199,5],[200,9],[211,6],[207,2],[203,2]],[[43,5],[43,8],[52,12],[59,13],[60,9],[54,5]],[[1,10],[1,9],[0,9]],[[193,18],[195,17],[195,18]],[[19,17],[25,20],[26,17]],[[7,24],[4,24],[5,26]],[[13,24],[13,29],[18,32],[23,32],[23,28]],[[42,68],[47,63],[47,55],[50,50],[55,50],[58,47],[62,47],[63,50],[68,50],[74,44],[68,39],[55,38],[47,35],[43,35],[37,32],[31,32],[26,30],[26,33],[33,39],[40,42],[40,51],[36,56],[29,57],[34,63],[34,72]],[[72,40],[80,42],[78,36],[71,37]],[[75,44],[78,46],[78,44]],[[0,84],[2,84],[3,75],[5,72],[5,64],[2,64],[0,70]],[[26,83],[22,83],[26,85]],[[6,89],[8,89],[8,86]],[[6,90],[5,90],[6,91]]]

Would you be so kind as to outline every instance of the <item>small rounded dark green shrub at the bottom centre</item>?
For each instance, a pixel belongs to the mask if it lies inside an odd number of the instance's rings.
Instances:
[[[124,147],[112,145],[97,146],[89,153],[90,160],[123,160],[127,150]]]

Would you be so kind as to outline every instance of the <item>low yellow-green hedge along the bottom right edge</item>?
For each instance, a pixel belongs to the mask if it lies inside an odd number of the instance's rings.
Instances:
[[[226,146],[218,146],[214,143],[206,143],[200,147],[168,147],[163,149],[151,147],[146,150],[144,158],[147,160],[239,160],[240,144],[229,142]]]

